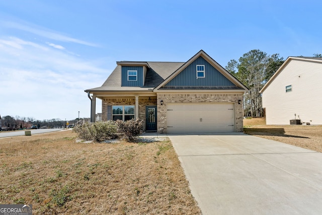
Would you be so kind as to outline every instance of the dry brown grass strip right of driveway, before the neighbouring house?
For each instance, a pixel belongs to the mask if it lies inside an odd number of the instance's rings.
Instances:
[[[244,119],[244,133],[322,152],[322,125],[265,125],[265,118]]]

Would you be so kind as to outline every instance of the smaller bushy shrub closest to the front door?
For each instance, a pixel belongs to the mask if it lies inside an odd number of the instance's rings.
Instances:
[[[134,141],[137,136],[142,133],[143,120],[131,119],[127,121],[117,120],[119,133],[123,135],[123,139],[126,141]]]

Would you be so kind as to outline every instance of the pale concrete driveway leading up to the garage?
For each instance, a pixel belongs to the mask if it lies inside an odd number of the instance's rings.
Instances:
[[[322,214],[322,153],[243,133],[169,138],[203,214]]]

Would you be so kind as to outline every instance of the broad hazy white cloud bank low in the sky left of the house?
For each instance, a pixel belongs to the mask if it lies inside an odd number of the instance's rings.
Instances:
[[[1,115],[68,120],[81,111],[81,117],[89,117],[90,100],[84,90],[101,86],[111,71],[100,61],[48,45],[0,38]]]

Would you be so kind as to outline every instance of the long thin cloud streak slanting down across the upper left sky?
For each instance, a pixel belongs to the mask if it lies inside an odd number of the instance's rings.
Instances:
[[[56,40],[56,41],[61,41],[61,42],[72,42],[72,43],[78,43],[82,45],[87,45],[87,46],[93,46],[93,47],[98,47],[97,44],[86,42],[83,40],[75,39],[72,37],[68,37],[63,35],[62,33],[57,33],[49,29],[45,29],[43,27],[27,23],[25,21],[20,21],[21,23],[18,22],[12,22],[12,21],[0,21],[0,25],[5,28],[12,28],[12,29],[18,29],[22,31],[27,31],[33,34],[36,34],[38,36],[42,36],[48,39]]]

